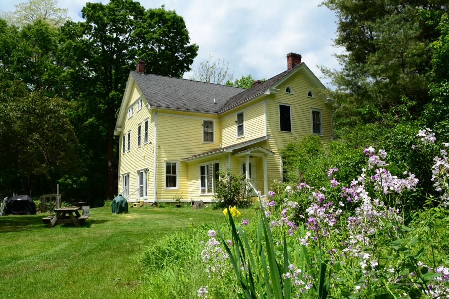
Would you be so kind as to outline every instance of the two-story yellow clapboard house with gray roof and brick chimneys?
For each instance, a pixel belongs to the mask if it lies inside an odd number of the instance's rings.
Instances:
[[[281,149],[316,134],[332,139],[332,100],[301,62],[250,89],[130,72],[115,126],[118,193],[129,201],[212,201],[217,172],[245,173],[262,195],[283,179]]]

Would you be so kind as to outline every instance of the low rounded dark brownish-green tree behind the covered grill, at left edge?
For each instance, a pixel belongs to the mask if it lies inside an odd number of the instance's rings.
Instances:
[[[14,88],[11,86],[11,88]],[[76,137],[68,120],[68,103],[48,98],[40,90],[17,88],[18,96],[0,96],[0,174],[3,192],[14,188],[30,194],[55,186],[51,177],[76,170]],[[12,191],[12,190],[11,190]]]

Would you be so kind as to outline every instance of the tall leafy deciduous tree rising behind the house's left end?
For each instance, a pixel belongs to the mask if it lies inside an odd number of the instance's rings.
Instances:
[[[84,21],[61,28],[66,77],[70,97],[80,107],[74,112],[78,137],[95,163],[92,171],[107,174],[105,195],[112,198],[114,126],[129,71],[143,58],[146,72],[181,77],[190,70],[198,46],[190,44],[183,18],[164,6],[145,10],[132,0],[111,0],[87,3],[81,13]],[[102,188],[103,182],[97,183]]]

